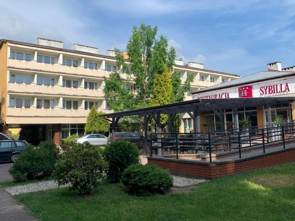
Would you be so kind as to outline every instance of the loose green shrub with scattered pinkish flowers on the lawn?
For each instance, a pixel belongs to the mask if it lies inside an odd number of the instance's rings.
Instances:
[[[90,194],[107,169],[102,149],[91,144],[63,143],[53,175],[58,185],[71,183],[71,189]]]

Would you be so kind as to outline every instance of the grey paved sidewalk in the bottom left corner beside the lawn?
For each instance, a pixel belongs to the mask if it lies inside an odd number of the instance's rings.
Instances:
[[[0,205],[0,220],[36,221],[36,219],[24,209],[24,205],[19,203],[2,188],[0,188]]]

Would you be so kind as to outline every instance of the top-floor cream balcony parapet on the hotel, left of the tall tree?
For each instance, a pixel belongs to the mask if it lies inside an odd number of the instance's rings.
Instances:
[[[39,63],[37,61],[25,61],[25,60],[16,60],[9,58],[8,65],[9,67],[16,68],[28,68],[39,71],[48,71],[48,72],[58,72],[58,73],[68,73],[74,75],[86,75],[93,77],[109,77],[109,71],[102,69],[88,69],[84,67],[74,67],[61,64],[48,64],[48,63]]]

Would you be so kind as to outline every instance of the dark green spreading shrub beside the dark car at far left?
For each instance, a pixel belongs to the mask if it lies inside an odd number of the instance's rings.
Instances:
[[[59,150],[51,140],[41,141],[39,146],[28,146],[9,169],[15,182],[42,179],[52,174]]]

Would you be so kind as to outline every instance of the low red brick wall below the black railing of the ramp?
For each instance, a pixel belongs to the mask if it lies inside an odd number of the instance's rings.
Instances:
[[[261,156],[255,159],[226,163],[226,164],[192,164],[175,161],[164,161],[160,159],[148,159],[148,162],[157,164],[170,172],[191,175],[196,177],[217,178],[232,174],[253,171],[270,166],[277,166],[289,162],[295,162],[295,149],[280,153]]]

